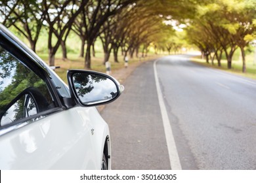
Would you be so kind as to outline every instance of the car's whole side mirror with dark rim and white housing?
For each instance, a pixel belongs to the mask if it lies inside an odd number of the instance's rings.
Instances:
[[[116,79],[95,71],[69,70],[68,84],[75,101],[88,107],[110,103],[124,90]]]

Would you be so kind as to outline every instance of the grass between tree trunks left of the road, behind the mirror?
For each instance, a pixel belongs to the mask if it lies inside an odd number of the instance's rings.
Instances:
[[[45,63],[49,64],[48,61],[48,54],[38,54]],[[146,58],[130,58],[129,59],[129,65],[132,65],[133,63],[137,63],[139,61],[148,61],[150,59],[158,58],[161,55],[155,55],[155,54],[148,54]],[[92,71],[98,71],[101,73],[106,73],[106,67],[103,65],[103,58],[104,54],[102,52],[96,53],[96,56],[91,56],[91,70]],[[118,56],[119,63],[114,62],[114,56],[110,56],[109,59],[111,63],[111,71],[116,71],[118,69],[121,69],[124,67],[124,61],[123,56],[121,54]],[[56,54],[55,56],[55,66],[60,66],[59,69],[56,69],[55,72],[57,73],[64,82],[67,81],[67,71],[68,69],[85,69],[85,58],[79,58],[78,54],[70,53],[68,54],[68,59],[63,60],[62,54]]]

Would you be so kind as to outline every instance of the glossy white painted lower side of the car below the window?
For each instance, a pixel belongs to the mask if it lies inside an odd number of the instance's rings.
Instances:
[[[74,107],[3,135],[0,169],[100,169],[109,131],[97,113]]]

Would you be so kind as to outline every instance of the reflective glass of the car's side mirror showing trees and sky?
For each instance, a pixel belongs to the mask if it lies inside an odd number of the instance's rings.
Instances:
[[[116,84],[102,75],[74,73],[72,81],[75,92],[84,105],[107,102],[118,95]]]

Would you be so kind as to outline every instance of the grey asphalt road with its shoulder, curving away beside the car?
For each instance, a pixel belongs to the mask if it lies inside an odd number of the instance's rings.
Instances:
[[[256,169],[254,80],[187,56],[159,59],[156,73],[182,169]],[[171,169],[154,61],[140,65],[124,85],[102,111],[110,125],[112,169]]]

